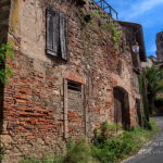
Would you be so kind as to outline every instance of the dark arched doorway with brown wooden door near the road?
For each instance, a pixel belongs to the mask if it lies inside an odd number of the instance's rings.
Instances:
[[[123,129],[130,127],[128,92],[122,87],[114,87],[114,123],[122,123]]]

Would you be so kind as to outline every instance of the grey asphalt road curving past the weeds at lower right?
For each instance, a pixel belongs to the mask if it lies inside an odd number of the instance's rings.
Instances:
[[[155,117],[155,121],[161,128],[156,137],[135,156],[122,163],[163,163],[163,116]]]

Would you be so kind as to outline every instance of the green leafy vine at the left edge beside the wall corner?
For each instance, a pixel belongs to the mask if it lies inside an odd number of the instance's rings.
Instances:
[[[13,76],[12,68],[5,62],[8,58],[11,60],[14,58],[12,42],[0,45],[0,83],[4,85],[7,85],[8,79]]]

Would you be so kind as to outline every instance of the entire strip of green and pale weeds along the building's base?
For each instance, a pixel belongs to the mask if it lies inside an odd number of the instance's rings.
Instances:
[[[129,131],[123,130],[121,135],[106,137],[108,130],[121,129],[121,125],[101,124],[96,130],[92,143],[86,139],[68,141],[67,153],[64,156],[47,156],[42,160],[25,160],[20,163],[115,163],[137,151],[146,141],[150,140],[158,130],[156,125],[149,123],[151,130],[133,127]]]

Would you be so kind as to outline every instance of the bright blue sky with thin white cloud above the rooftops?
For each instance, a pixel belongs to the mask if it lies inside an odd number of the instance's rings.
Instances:
[[[163,0],[106,0],[118,12],[118,20],[143,27],[147,55],[155,55],[155,35],[163,32]]]

